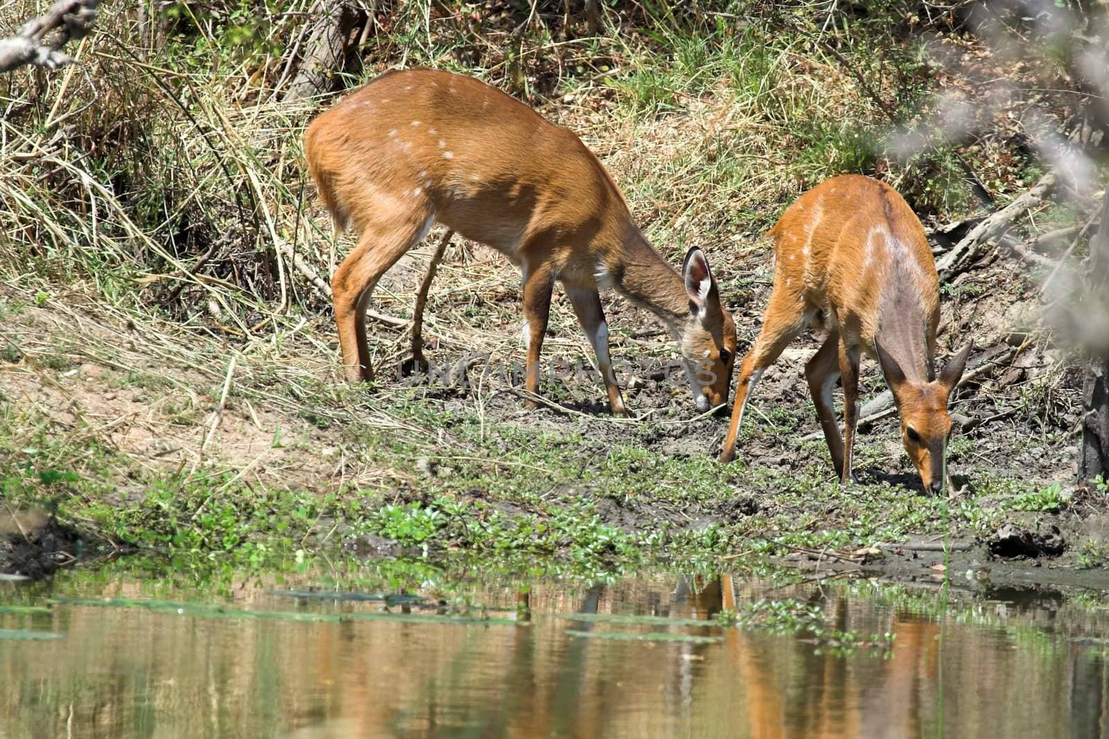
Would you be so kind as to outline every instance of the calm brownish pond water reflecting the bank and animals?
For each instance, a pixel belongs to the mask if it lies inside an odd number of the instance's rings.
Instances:
[[[396,566],[224,573],[199,583],[121,567],[49,584],[0,583],[0,606],[125,599],[0,614],[0,629],[61,635],[0,640],[0,737],[1042,739],[1109,730],[1101,640],[1109,612],[1097,604],[1020,592],[945,594],[934,584],[675,573],[590,583],[476,567],[398,574]],[[322,584],[428,601],[388,606],[424,615],[414,620],[240,617],[244,609],[306,618],[384,613],[380,601],[275,594]],[[725,605],[750,616],[765,613],[751,610],[753,602],[786,598],[818,607],[828,629],[864,643],[895,634],[893,646],[879,639],[844,654],[807,634],[708,620]],[[183,613],[134,607],[152,601],[181,602]],[[467,604],[471,617],[495,620],[449,620]],[[563,617],[576,612],[705,624]],[[588,636],[615,633],[719,640]]]

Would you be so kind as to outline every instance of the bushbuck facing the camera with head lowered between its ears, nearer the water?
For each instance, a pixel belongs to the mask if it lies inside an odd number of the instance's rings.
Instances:
[[[805,366],[836,474],[852,479],[858,423],[858,359],[878,360],[901,413],[905,451],[926,492],[943,491],[952,419],[947,399],[963,377],[968,342],[936,378],[939,279],[924,227],[888,185],[861,175],[827,179],[791,205],[774,239],[774,287],[762,331],[743,358],[721,461],[735,459],[743,408],[782,350],[805,327],[827,332]],[[843,382],[844,433],[832,404]]]

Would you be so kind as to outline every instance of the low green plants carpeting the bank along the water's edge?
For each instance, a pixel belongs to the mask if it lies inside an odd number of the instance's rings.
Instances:
[[[634,438],[642,431],[598,453],[577,432],[537,434],[420,403],[388,410],[426,429],[425,440],[375,431],[362,440],[364,453],[385,468],[416,471],[420,482],[411,489],[321,495],[248,485],[231,471],[134,470],[140,492],[119,500],[112,486],[125,458],[92,445],[74,471],[67,464],[72,449],[45,433],[39,447],[19,450],[22,463],[0,465],[0,481],[6,500],[57,510],[119,545],[251,563],[374,534],[414,552],[532,553],[589,569],[664,554],[855,547],[942,533],[947,522],[985,533],[1004,510],[1060,504],[1058,490],[1047,489],[1009,493],[1000,509],[980,496],[949,506],[882,484],[841,486],[823,463],[785,473],[720,465],[709,455],[669,456],[645,449]],[[455,440],[451,449],[430,441],[438,429]],[[3,443],[0,435],[0,450]],[[741,492],[756,510],[726,513]]]

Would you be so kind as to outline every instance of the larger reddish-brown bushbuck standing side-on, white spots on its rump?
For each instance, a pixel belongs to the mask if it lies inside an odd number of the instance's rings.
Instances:
[[[598,294],[609,286],[670,328],[699,410],[728,401],[735,324],[704,254],[690,249],[681,274],[667,264],[632,223],[604,167],[570,131],[484,82],[414,69],[386,72],[322,113],[304,143],[336,225],[358,234],[332,277],[347,380],[373,376],[365,326],[370,291],[440,223],[522,269],[528,391],[539,389],[557,279],[592,343],[613,413],[628,411]]]

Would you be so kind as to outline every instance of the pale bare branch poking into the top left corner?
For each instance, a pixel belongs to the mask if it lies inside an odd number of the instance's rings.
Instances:
[[[23,64],[53,70],[73,63],[59,49],[92,32],[96,4],[98,0],[58,0],[45,16],[23,23],[16,35],[0,39],[0,72]]]

